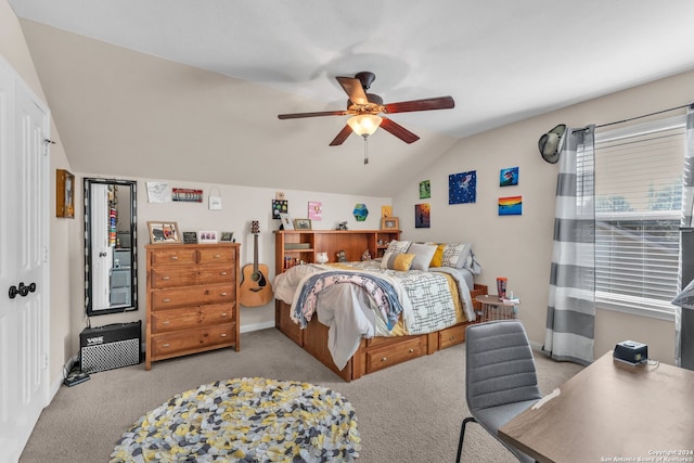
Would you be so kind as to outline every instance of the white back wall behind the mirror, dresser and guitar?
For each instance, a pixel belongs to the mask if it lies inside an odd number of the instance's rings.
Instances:
[[[106,177],[106,175],[79,175],[77,182],[78,204],[81,204],[83,177]],[[183,231],[233,231],[237,243],[241,243],[241,268],[244,265],[253,265],[254,240],[250,233],[250,221],[258,220],[260,233],[258,235],[258,262],[267,263],[270,269],[270,280],[274,280],[274,230],[279,229],[280,221],[272,219],[272,200],[278,191],[282,191],[288,201],[288,211],[293,218],[308,218],[308,202],[322,203],[322,218],[313,220],[314,230],[334,230],[338,222],[347,221],[350,230],[373,230],[381,227],[381,206],[390,205],[389,197],[357,196],[331,193],[314,193],[296,190],[270,190],[265,188],[245,188],[236,185],[213,185],[208,183],[192,183],[181,181],[166,181],[162,179],[125,179],[138,182],[138,299],[140,309],[136,312],[98,316],[91,318],[92,326],[101,326],[108,323],[120,323],[136,320],[144,320],[146,300],[146,263],[144,245],[149,243],[147,221],[175,221],[179,230]],[[147,181],[165,181],[172,188],[203,190],[203,203],[149,203],[146,193]],[[214,189],[214,190],[213,190]],[[207,196],[214,191],[215,195],[221,194],[222,209],[209,210]],[[365,221],[357,222],[352,215],[355,205],[365,204],[369,216]],[[76,213],[81,222],[83,211]],[[73,246],[81,246],[81,234],[73,237]],[[81,256],[74,262],[73,272],[77,275],[81,270],[83,259]],[[241,276],[241,275],[240,275]],[[72,282],[72,293],[75,300],[83,300],[83,283],[81,278],[75,276]],[[79,346],[78,334],[85,327],[83,310],[77,307],[70,316],[70,327],[74,333],[73,349],[76,352]],[[241,332],[254,331],[274,326],[274,300],[264,307],[241,308]],[[243,347],[243,336],[241,339]]]

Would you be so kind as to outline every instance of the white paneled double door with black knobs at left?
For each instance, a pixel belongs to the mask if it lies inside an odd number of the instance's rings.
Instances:
[[[49,399],[48,127],[48,110],[0,61],[0,452],[9,462]]]

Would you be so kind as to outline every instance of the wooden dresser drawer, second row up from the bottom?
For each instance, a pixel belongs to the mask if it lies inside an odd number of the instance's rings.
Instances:
[[[152,333],[166,333],[233,321],[232,304],[216,304],[183,309],[158,310],[152,313]]]

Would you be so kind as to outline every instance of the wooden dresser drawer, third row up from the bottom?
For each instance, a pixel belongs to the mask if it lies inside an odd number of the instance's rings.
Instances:
[[[228,283],[152,290],[152,310],[207,306],[210,304],[232,304],[235,301],[234,293],[235,286]]]

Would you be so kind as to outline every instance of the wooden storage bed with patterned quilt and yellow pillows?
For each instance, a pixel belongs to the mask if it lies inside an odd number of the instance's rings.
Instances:
[[[480,268],[465,243],[393,241],[374,260],[308,263],[273,284],[277,326],[345,381],[465,339]]]

